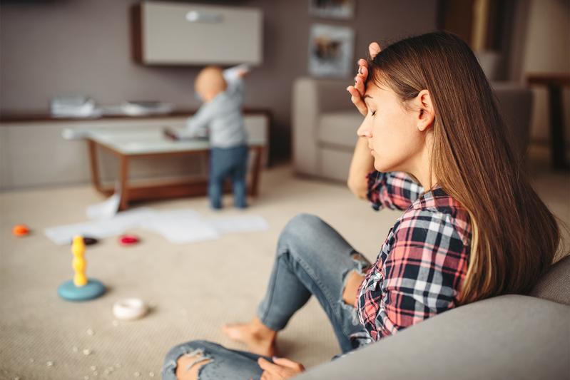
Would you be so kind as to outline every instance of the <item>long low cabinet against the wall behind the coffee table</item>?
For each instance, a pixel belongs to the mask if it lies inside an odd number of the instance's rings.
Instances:
[[[183,128],[191,113],[156,117],[103,117],[96,119],[58,119],[45,117],[9,117],[0,120],[0,191],[39,186],[87,183],[90,177],[85,140],[63,140],[64,129],[85,128]],[[245,111],[245,128],[255,140],[264,141],[262,165],[267,165],[270,114]],[[101,155],[100,171],[105,183],[117,178],[116,158]],[[173,178],[203,178],[208,163],[200,156],[141,159],[131,166],[131,178],[137,181]]]

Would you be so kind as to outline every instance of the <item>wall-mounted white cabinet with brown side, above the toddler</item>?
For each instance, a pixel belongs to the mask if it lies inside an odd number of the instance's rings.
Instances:
[[[145,65],[263,61],[259,9],[143,1],[131,10],[133,57]]]

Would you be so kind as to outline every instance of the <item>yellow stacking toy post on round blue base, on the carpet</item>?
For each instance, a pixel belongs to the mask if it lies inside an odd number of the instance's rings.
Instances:
[[[83,237],[73,237],[71,245],[73,252],[72,267],[75,272],[73,279],[63,282],[58,287],[59,297],[67,301],[87,301],[100,297],[105,292],[105,285],[97,279],[89,279],[85,272],[87,262],[85,260],[85,242]]]

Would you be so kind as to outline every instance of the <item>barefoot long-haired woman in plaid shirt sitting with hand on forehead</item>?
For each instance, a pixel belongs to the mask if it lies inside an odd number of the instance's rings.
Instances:
[[[370,75],[369,75],[370,72]],[[554,216],[512,153],[477,59],[453,34],[404,39],[359,61],[347,88],[365,116],[349,188],[376,210],[404,210],[374,264],[312,215],[278,242],[258,316],[224,327],[250,352],[210,342],[172,349],[164,379],[287,379],[277,332],[315,295],[345,353],[458,305],[525,293],[553,261]]]

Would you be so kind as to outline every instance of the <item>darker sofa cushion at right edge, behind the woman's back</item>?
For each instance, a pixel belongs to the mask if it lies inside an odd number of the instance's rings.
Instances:
[[[530,295],[570,305],[570,256],[552,265],[539,279]]]

